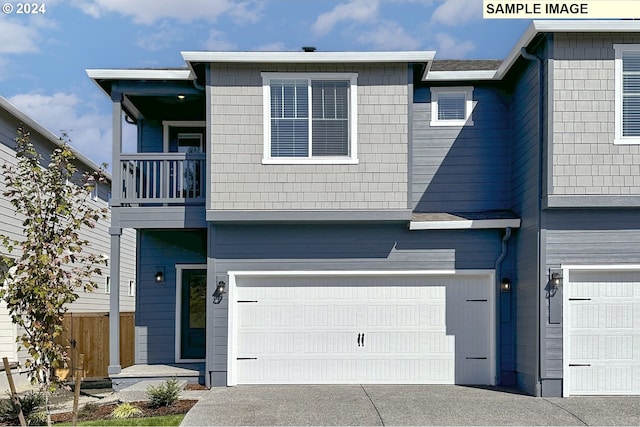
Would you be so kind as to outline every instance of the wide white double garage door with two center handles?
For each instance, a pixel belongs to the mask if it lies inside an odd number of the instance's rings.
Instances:
[[[492,384],[492,286],[476,277],[239,278],[237,384]]]

